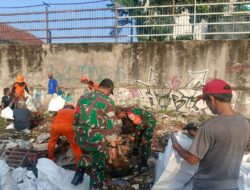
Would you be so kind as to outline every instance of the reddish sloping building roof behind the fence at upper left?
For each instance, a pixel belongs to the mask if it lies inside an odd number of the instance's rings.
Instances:
[[[33,34],[2,23],[0,23],[0,41],[11,44],[43,44],[43,41]]]

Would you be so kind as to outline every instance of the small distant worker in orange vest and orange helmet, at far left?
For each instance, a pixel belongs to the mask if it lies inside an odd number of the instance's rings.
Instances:
[[[29,89],[27,83],[24,82],[24,77],[22,75],[17,75],[16,82],[12,87],[12,94],[14,98],[18,100],[25,100],[25,91],[29,94]]]

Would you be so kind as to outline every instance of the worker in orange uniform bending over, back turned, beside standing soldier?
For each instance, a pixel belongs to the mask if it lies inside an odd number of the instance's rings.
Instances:
[[[54,120],[51,125],[50,139],[48,143],[48,158],[55,160],[55,145],[60,136],[65,136],[69,141],[71,148],[73,149],[75,155],[75,163],[78,164],[78,161],[81,157],[82,150],[75,143],[74,140],[74,123],[75,108],[72,105],[65,105],[63,109],[60,109],[57,112],[57,115],[54,117]]]

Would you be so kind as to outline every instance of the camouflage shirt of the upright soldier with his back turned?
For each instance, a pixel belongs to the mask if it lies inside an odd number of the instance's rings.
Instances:
[[[75,134],[77,144],[86,151],[107,148],[107,139],[115,137],[114,102],[100,91],[83,95],[77,104]]]

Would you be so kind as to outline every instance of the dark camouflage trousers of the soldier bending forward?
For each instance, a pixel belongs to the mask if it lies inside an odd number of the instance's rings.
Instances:
[[[155,118],[147,119],[147,126],[138,131],[139,134],[135,136],[135,146],[140,149],[141,160],[147,160],[151,154],[151,143],[156,126]]]

